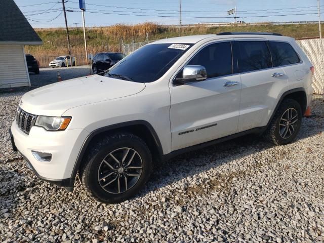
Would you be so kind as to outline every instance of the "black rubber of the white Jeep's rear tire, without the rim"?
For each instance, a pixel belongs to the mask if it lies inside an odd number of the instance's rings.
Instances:
[[[279,133],[279,123],[280,123],[280,119],[281,116],[286,112],[287,109],[289,108],[294,108],[297,111],[298,114],[298,121],[297,121],[297,127],[295,129],[295,132],[293,133],[292,136],[290,136],[287,139],[284,139],[280,136]],[[280,145],[285,145],[288,143],[291,143],[298,135],[299,130],[301,128],[301,124],[302,124],[302,109],[299,105],[299,103],[295,100],[289,100],[288,102],[285,102],[282,106],[280,106],[279,110],[278,110],[278,116],[277,119],[275,120],[275,130],[274,130],[274,136],[278,142],[278,144]]]

